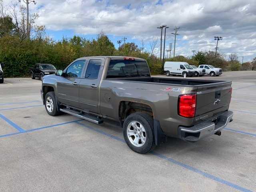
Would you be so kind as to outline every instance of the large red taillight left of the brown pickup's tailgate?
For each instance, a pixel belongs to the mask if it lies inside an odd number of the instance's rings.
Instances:
[[[196,114],[196,94],[179,96],[178,114],[182,117],[192,118]]]

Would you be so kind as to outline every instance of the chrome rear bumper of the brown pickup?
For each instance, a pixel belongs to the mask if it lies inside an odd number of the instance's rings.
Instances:
[[[179,137],[186,141],[196,142],[204,137],[216,134],[216,132],[222,130],[229,122],[232,121],[233,112],[227,111],[214,118],[214,120],[208,120],[196,124],[192,127],[178,127]]]

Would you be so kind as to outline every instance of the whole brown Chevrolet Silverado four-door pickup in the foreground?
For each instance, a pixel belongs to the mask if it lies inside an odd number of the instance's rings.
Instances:
[[[79,58],[44,76],[41,97],[51,116],[68,113],[100,124],[120,122],[126,144],[144,154],[167,137],[196,142],[232,121],[232,82],[156,78],[146,60]]]

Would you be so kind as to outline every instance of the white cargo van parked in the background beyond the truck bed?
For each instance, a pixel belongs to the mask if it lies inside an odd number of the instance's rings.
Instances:
[[[182,75],[182,76],[195,76],[194,69],[187,62],[171,62],[164,63],[164,72],[166,76]]]

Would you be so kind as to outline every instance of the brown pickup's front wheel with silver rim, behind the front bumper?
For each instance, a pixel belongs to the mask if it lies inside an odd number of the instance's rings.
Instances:
[[[60,114],[60,112],[58,111],[58,104],[56,102],[55,99],[55,94],[53,91],[48,92],[44,98],[44,106],[46,109],[46,112],[50,115],[50,116],[57,116]]]

